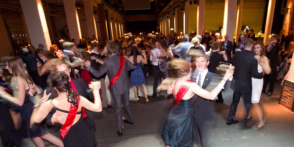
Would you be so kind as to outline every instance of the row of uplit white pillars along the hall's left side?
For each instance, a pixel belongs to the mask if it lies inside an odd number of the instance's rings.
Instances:
[[[38,46],[38,44],[41,43],[49,49],[51,45],[51,40],[49,36],[45,13],[42,6],[42,1],[41,0],[30,0],[30,1],[20,0],[20,3],[22,6],[25,24],[27,26],[28,33],[30,35],[31,44],[33,46]],[[76,3],[75,0],[63,0],[70,38],[76,39],[78,41],[80,40],[80,38],[82,38],[82,34],[80,29],[79,16],[77,13],[77,8],[75,6],[75,3]],[[98,5],[101,5],[101,4],[98,4]],[[102,10],[100,10],[100,12],[105,11],[104,6],[101,8]],[[88,34],[90,36],[95,35],[96,37],[98,37],[95,17],[93,15],[92,0],[84,1],[84,9],[85,9],[85,15],[86,15]],[[105,15],[103,17],[99,16],[99,19],[100,19],[100,22],[106,21]],[[109,20],[109,23],[110,24],[113,23],[112,20]],[[111,30],[110,32],[112,33],[112,39],[114,38],[113,37],[114,35],[116,35],[116,38],[118,38],[118,36],[122,36],[123,34],[123,25],[118,24],[117,26],[116,24],[117,23],[115,22],[115,25],[113,25],[115,28],[112,28],[113,30]],[[112,26],[109,26],[109,27],[111,28]],[[106,25],[104,25],[103,27],[100,26],[100,28],[107,29]],[[105,30],[105,29],[101,29],[101,30]],[[120,30],[119,35],[117,30]],[[102,39],[105,42],[106,39],[109,39],[109,38],[102,37]]]

